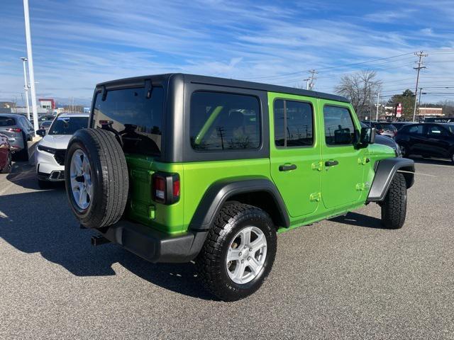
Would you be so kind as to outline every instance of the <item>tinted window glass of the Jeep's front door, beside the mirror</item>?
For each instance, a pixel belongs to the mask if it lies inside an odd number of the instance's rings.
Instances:
[[[352,145],[355,141],[355,125],[348,108],[325,106],[325,140],[327,145]]]

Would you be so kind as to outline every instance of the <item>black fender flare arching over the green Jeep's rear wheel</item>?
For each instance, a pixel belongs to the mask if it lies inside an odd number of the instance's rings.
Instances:
[[[272,183],[266,177],[234,177],[216,181],[206,190],[189,223],[189,229],[194,231],[210,229],[214,218],[228,198],[240,193],[257,193],[260,191],[272,196],[284,227],[289,227],[289,214],[275,183]]]

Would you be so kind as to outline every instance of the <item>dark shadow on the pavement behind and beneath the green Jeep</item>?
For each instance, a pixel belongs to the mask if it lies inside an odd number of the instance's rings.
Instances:
[[[34,176],[14,183],[36,188]],[[67,203],[64,186],[53,190],[0,196],[0,237],[26,254],[40,253],[75,276],[114,276],[120,263],[136,276],[184,295],[214,300],[196,278],[193,263],[150,263],[115,244],[94,247],[95,232],[80,229]]]

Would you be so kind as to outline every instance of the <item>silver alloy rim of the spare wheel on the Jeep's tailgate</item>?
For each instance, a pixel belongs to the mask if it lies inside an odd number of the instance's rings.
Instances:
[[[87,209],[93,196],[92,169],[87,155],[81,149],[77,149],[72,154],[70,181],[72,197],[77,206],[82,210]]]

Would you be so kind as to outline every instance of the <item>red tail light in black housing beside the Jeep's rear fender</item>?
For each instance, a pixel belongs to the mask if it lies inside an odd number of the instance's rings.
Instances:
[[[153,174],[153,200],[162,204],[173,204],[179,201],[180,182],[178,174],[157,172]]]

